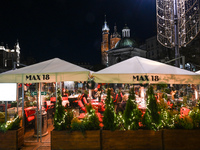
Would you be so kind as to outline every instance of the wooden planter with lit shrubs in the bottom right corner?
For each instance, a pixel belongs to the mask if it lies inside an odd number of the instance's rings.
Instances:
[[[163,144],[165,150],[199,149],[199,108],[193,108],[189,115],[186,116],[175,114],[173,119],[175,128],[163,130]]]

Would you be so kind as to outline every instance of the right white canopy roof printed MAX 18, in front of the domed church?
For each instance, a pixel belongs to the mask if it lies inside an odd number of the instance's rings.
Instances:
[[[93,73],[97,83],[199,84],[200,75],[139,56]]]

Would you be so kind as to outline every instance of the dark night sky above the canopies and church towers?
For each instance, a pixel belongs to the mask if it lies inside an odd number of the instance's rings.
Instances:
[[[105,15],[110,33],[116,23],[139,44],[156,35],[156,0],[0,0],[0,42],[18,39],[22,59],[99,64]]]

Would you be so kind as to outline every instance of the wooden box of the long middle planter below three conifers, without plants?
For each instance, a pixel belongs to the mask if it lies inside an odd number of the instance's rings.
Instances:
[[[162,131],[102,130],[102,150],[161,150]]]

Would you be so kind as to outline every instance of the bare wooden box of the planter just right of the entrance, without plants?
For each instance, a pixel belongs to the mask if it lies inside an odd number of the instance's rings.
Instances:
[[[52,150],[100,150],[100,130],[51,131]]]

